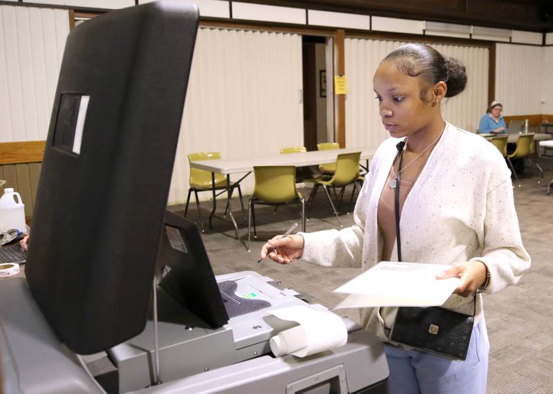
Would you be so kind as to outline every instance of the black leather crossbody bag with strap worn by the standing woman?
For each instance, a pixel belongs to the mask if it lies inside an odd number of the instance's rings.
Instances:
[[[397,261],[402,261],[400,237],[400,169],[405,140],[397,144],[397,172],[395,182],[395,234]],[[467,358],[476,315],[474,297],[473,315],[431,306],[427,308],[401,307],[397,309],[390,339],[398,344],[412,346],[423,352],[464,361]]]

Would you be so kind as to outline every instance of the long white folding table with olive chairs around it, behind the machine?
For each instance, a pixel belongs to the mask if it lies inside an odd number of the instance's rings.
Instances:
[[[216,159],[216,160],[200,160],[190,163],[190,167],[197,169],[203,169],[212,173],[212,185],[215,185],[215,173],[223,173],[227,176],[227,206],[228,214],[232,225],[234,225],[235,238],[238,239],[238,225],[232,215],[231,205],[231,187],[230,187],[230,174],[231,173],[246,173],[245,176],[240,178],[237,183],[241,182],[246,176],[250,175],[254,171],[254,167],[257,166],[275,166],[275,165],[293,165],[296,167],[306,167],[310,165],[319,165],[335,162],[337,156],[341,153],[352,153],[361,151],[361,160],[366,161],[366,165],[362,166],[368,171],[368,160],[372,159],[376,149],[374,148],[345,148],[345,149],[330,149],[326,151],[310,151],[300,153],[286,153],[281,155],[270,156],[255,156],[250,158],[236,158],[236,159]],[[209,228],[212,228],[213,218],[219,218],[224,221],[227,219],[223,216],[215,214],[217,208],[215,198],[215,188],[213,188],[213,209],[209,214]]]

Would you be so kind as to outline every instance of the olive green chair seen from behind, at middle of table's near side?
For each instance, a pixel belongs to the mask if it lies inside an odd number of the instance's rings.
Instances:
[[[247,209],[247,250],[250,251],[252,223],[254,237],[257,237],[255,225],[255,205],[279,206],[288,203],[301,203],[301,226],[306,231],[306,202],[296,189],[296,167],[259,166],[254,167],[254,194]]]

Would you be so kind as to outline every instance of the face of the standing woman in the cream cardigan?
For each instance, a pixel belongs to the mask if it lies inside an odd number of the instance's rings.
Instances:
[[[436,115],[433,106],[420,99],[421,78],[402,73],[394,60],[380,64],[373,86],[382,124],[394,138],[424,129]],[[427,93],[428,99],[433,100],[433,95]]]

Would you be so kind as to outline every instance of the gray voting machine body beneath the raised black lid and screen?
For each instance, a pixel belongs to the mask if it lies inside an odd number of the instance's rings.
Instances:
[[[345,346],[304,358],[274,357],[270,338],[297,323],[281,321],[270,315],[270,310],[308,305],[309,296],[256,272],[216,279],[236,281],[236,295],[264,299],[271,306],[232,317],[213,330],[197,318],[197,324],[189,323],[194,315],[158,291],[163,384],[152,386],[154,336],[153,322],[148,321],[140,335],[108,350],[118,368],[120,393],[386,393],[388,366],[383,345],[374,335],[344,319],[349,332]],[[6,391],[101,393],[81,357],[59,343],[26,281],[18,278],[1,284],[1,377]]]

